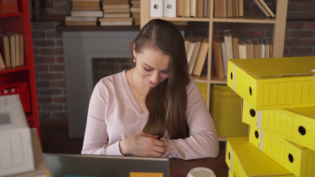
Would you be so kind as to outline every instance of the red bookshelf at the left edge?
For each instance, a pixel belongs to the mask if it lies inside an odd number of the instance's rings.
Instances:
[[[0,88],[8,89],[7,94],[19,93],[27,121],[31,128],[37,129],[40,137],[29,0],[17,2],[19,12],[0,14],[0,21],[2,33],[18,32],[24,35],[24,65],[1,69]],[[1,91],[0,95],[6,94]]]

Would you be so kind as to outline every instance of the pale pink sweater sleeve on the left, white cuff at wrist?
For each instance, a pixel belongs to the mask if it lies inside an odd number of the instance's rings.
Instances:
[[[108,92],[98,82],[90,99],[82,154],[122,155],[119,150],[119,141],[108,145],[107,125],[104,121],[107,97]]]

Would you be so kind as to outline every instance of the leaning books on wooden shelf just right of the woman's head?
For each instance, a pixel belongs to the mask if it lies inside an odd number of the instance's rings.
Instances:
[[[189,73],[200,76],[204,63],[207,59],[209,39],[203,36],[185,38]]]

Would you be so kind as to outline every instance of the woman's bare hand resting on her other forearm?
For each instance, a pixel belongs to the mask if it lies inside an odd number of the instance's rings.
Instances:
[[[142,132],[121,140],[119,147],[121,153],[124,155],[161,157],[166,151],[164,144],[165,142],[163,140],[158,140],[158,136]]]

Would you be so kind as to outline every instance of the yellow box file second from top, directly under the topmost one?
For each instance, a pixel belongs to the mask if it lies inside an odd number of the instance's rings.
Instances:
[[[315,107],[257,111],[243,100],[242,121],[315,150]]]

